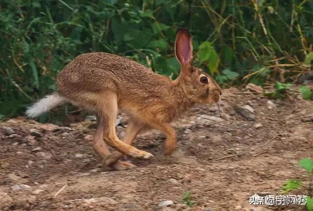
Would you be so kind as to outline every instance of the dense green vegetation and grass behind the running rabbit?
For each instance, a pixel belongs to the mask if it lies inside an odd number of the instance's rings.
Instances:
[[[312,11],[310,0],[1,0],[0,117],[54,92],[81,53],[127,56],[175,78],[180,26],[193,35],[195,65],[221,85],[292,82],[312,68]]]

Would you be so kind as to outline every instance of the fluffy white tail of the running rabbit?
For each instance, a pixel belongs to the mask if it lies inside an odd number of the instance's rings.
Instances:
[[[31,118],[38,117],[50,111],[52,108],[66,102],[67,99],[57,93],[46,95],[44,98],[34,103],[31,107],[27,108],[26,116]]]

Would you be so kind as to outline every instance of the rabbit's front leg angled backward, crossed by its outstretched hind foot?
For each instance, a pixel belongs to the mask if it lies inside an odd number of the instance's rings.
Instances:
[[[138,133],[145,127],[145,124],[139,121],[136,121],[134,119],[131,119],[129,121],[129,124],[127,126],[126,132],[125,132],[125,137],[123,139],[123,142],[132,145],[134,139],[138,135]],[[110,154],[102,163],[102,165],[110,166],[111,164],[116,163],[119,159],[121,159],[124,156],[124,154],[120,152],[113,152]]]

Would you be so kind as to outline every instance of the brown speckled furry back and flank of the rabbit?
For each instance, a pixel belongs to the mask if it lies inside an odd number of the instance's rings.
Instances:
[[[125,57],[110,53],[85,53],[70,62],[57,77],[58,92],[74,99],[81,93],[111,90],[134,104],[163,101],[171,80]],[[171,97],[166,97],[170,99]],[[151,101],[151,102],[150,102]]]

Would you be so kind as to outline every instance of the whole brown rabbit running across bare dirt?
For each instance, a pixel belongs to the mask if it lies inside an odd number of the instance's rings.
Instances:
[[[187,29],[177,31],[175,54],[180,74],[174,81],[118,55],[102,52],[79,55],[59,73],[57,92],[36,102],[26,114],[38,117],[66,102],[94,111],[98,127],[93,147],[102,156],[105,169],[134,168],[133,164],[119,161],[123,155],[153,157],[132,146],[143,129],[162,131],[166,136],[165,155],[171,155],[176,135],[170,122],[195,103],[217,102],[222,94],[208,74],[193,67],[191,35]],[[118,109],[130,116],[123,141],[115,133]],[[110,154],[106,143],[117,151]]]

